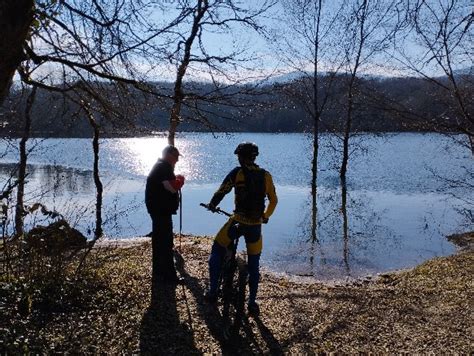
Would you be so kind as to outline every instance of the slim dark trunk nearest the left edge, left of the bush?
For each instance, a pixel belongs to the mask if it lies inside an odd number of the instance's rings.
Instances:
[[[25,195],[25,178],[26,178],[26,162],[28,159],[26,153],[26,142],[30,138],[31,131],[31,109],[35,101],[36,86],[33,86],[31,93],[26,101],[25,109],[25,127],[23,136],[20,141],[20,162],[18,167],[18,188],[16,195],[15,207],[15,232],[18,237],[23,235],[23,217],[24,217],[24,195]]]

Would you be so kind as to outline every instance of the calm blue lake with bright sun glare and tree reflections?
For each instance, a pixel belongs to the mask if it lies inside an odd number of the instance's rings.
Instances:
[[[341,209],[340,140],[321,136],[318,219],[311,234],[311,136],[305,134],[180,134],[183,157],[183,232],[214,235],[226,221],[199,207],[208,202],[237,160],[241,141],[260,147],[257,163],[269,170],[279,198],[264,225],[262,265],[276,272],[321,280],[358,277],[414,266],[455,251],[445,236],[473,229],[473,158],[469,150],[438,134],[361,134],[352,138],[348,199]],[[131,238],[151,230],[143,203],[148,172],[166,145],[162,136],[101,140],[104,230]],[[14,174],[17,140],[2,141],[0,177]],[[29,141],[26,204],[44,202],[91,235],[95,190],[91,141]],[[464,184],[467,183],[467,184]],[[221,203],[231,211],[233,195]],[[35,222],[42,222],[40,216]],[[175,217],[175,231],[179,219]],[[32,224],[30,219],[28,224]]]

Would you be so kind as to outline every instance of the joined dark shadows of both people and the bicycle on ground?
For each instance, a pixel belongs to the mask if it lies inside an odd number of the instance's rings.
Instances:
[[[278,340],[260,318],[243,316],[239,331],[226,338],[220,309],[205,302],[205,290],[200,279],[186,271],[181,255],[177,254],[175,259],[177,270],[184,277],[184,287],[159,286],[154,291],[141,324],[141,354],[283,354]],[[177,294],[179,303],[186,304],[184,314],[187,316],[181,315],[181,320],[187,319],[186,322],[180,321]],[[190,294],[190,298],[186,297],[187,294]],[[191,299],[193,305],[190,305]],[[201,337],[195,333],[193,326],[198,328],[201,325],[205,325],[206,333],[210,334],[215,345],[200,344]]]

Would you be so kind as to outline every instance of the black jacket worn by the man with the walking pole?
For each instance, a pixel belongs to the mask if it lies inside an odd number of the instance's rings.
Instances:
[[[176,214],[179,206],[178,193],[171,193],[163,186],[163,181],[176,176],[168,162],[159,159],[146,180],[145,204],[150,215]]]

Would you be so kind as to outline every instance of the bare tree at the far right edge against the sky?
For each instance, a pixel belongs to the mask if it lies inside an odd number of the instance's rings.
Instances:
[[[409,25],[394,58],[403,70],[425,78],[445,95],[443,132],[462,133],[474,155],[472,4],[456,0],[417,0],[408,8]],[[416,48],[416,51],[413,51]]]

